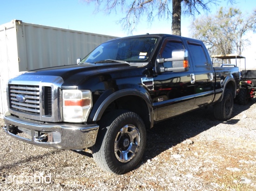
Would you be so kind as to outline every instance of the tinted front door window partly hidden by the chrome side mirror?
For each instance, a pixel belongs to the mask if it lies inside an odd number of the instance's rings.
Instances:
[[[168,41],[161,53],[162,58],[171,58],[172,57],[172,51],[174,50],[181,50],[184,49],[182,42],[173,42]],[[172,62],[166,62],[164,63],[165,68],[172,68]]]

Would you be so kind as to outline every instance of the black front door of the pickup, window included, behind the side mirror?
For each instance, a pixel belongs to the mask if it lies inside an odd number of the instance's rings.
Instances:
[[[166,39],[157,58],[172,58],[172,51],[184,49],[180,39]],[[172,68],[172,62],[162,63],[161,68]],[[162,70],[154,79],[155,94],[153,106],[157,108],[157,119],[160,121],[175,115],[183,114],[193,108],[194,84],[191,83],[193,67],[188,71]]]

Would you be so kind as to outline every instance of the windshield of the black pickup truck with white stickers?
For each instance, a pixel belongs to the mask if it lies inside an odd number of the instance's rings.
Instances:
[[[117,38],[98,46],[81,63],[145,63],[155,48],[157,37]]]

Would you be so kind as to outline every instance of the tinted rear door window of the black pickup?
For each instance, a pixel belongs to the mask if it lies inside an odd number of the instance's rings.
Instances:
[[[201,45],[189,44],[190,57],[195,62],[195,66],[206,66],[207,59]]]

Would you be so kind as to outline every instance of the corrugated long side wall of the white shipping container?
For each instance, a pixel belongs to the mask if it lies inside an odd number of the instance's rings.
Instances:
[[[76,64],[77,58],[85,57],[96,46],[116,38],[28,23],[21,23],[20,27],[18,31],[24,35],[23,47],[27,50],[27,68],[22,70]],[[23,61],[20,59],[20,62]]]

